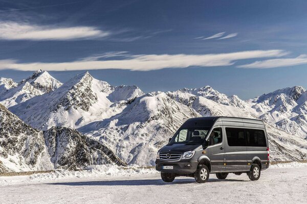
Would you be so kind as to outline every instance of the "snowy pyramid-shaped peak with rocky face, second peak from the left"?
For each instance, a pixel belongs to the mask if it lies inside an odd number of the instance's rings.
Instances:
[[[10,108],[33,127],[78,128],[120,113],[128,101],[144,93],[136,86],[113,87],[89,72],[77,75],[58,89]]]

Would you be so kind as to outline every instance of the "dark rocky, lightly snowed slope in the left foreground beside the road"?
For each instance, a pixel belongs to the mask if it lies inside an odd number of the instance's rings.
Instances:
[[[0,172],[127,164],[101,142],[67,127],[33,129],[0,105]]]

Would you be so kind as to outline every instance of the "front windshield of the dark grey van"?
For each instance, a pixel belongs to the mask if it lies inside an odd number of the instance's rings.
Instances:
[[[170,144],[196,143],[202,144],[210,130],[210,127],[195,127],[192,129],[181,129],[170,140]]]

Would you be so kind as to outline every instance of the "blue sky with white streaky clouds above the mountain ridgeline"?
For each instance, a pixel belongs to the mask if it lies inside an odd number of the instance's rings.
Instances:
[[[0,1],[0,77],[89,70],[144,92],[307,87],[306,1]]]

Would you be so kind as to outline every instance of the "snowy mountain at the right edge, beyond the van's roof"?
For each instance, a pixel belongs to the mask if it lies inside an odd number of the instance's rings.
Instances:
[[[248,100],[257,116],[278,129],[306,138],[307,91],[303,87],[279,89]]]

